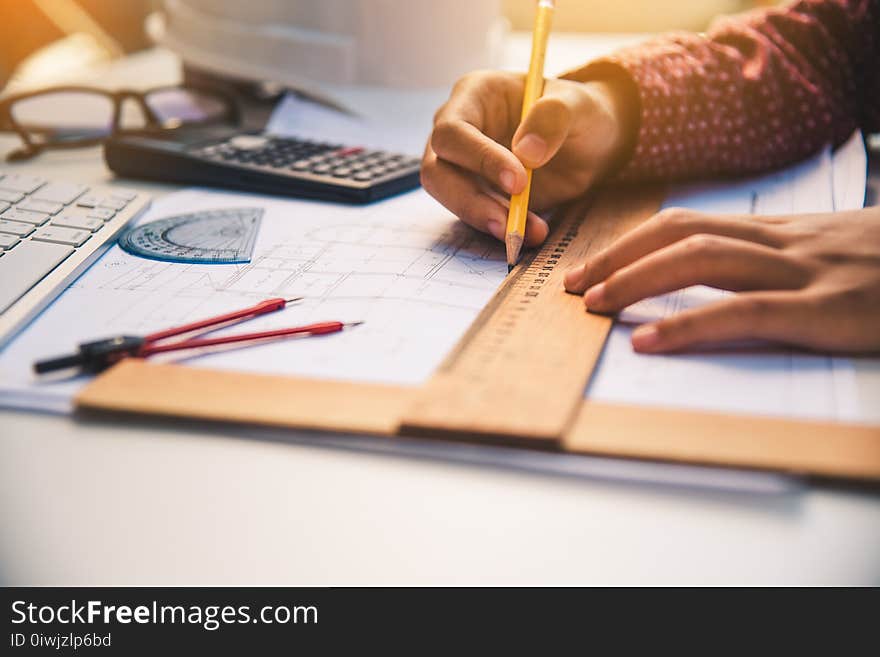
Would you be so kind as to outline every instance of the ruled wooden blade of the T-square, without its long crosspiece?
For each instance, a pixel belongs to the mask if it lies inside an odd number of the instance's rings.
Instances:
[[[618,191],[564,212],[420,390],[400,433],[559,447],[612,323],[565,293],[565,272],[654,214],[662,199],[659,188]]]

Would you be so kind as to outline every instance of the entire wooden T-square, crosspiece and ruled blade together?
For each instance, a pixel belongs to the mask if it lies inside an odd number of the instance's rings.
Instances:
[[[650,216],[662,196],[613,193],[561,218],[551,240],[508,278],[426,389],[129,359],[81,391],[77,408],[388,438],[401,431],[489,438],[580,454],[880,481],[878,426],[582,399],[611,320],[586,314],[579,297],[562,292],[562,275]],[[532,330],[535,336],[527,333]],[[502,349],[514,360],[499,358]]]

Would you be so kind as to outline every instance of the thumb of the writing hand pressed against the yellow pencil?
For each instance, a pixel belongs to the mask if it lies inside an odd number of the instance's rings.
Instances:
[[[562,98],[539,99],[513,135],[513,154],[530,169],[544,166],[568,137],[572,116],[571,107]]]

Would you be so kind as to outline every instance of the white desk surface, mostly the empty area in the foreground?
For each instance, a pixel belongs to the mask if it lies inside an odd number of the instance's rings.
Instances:
[[[152,54],[104,79],[174,76]],[[17,168],[110,179],[96,149]],[[880,372],[859,387],[880,399]],[[876,491],[538,475],[196,423],[0,411],[0,527],[3,584],[880,584]]]

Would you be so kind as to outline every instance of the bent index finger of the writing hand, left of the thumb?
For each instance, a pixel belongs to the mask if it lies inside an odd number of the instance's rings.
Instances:
[[[440,159],[476,173],[508,194],[525,187],[526,170],[514,154],[463,119],[438,121],[431,148]]]

